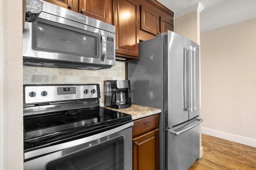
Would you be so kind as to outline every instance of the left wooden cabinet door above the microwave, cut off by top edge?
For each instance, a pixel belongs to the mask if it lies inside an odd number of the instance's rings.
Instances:
[[[78,0],[45,0],[52,4],[78,12]]]

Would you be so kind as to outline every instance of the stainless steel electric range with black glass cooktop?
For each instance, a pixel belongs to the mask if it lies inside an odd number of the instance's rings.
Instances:
[[[99,84],[24,85],[24,169],[130,170],[132,117],[99,98]]]

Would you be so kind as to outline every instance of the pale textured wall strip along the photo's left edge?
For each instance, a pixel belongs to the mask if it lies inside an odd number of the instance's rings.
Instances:
[[[22,0],[0,1],[0,170],[23,169]]]

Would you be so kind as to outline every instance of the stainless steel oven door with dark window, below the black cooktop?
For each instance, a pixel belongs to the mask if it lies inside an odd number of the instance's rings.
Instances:
[[[24,170],[131,170],[133,122],[24,153]]]

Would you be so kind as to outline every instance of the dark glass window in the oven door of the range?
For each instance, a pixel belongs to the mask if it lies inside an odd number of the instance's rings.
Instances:
[[[123,170],[124,138],[122,136],[94,145],[46,165],[46,170]]]

